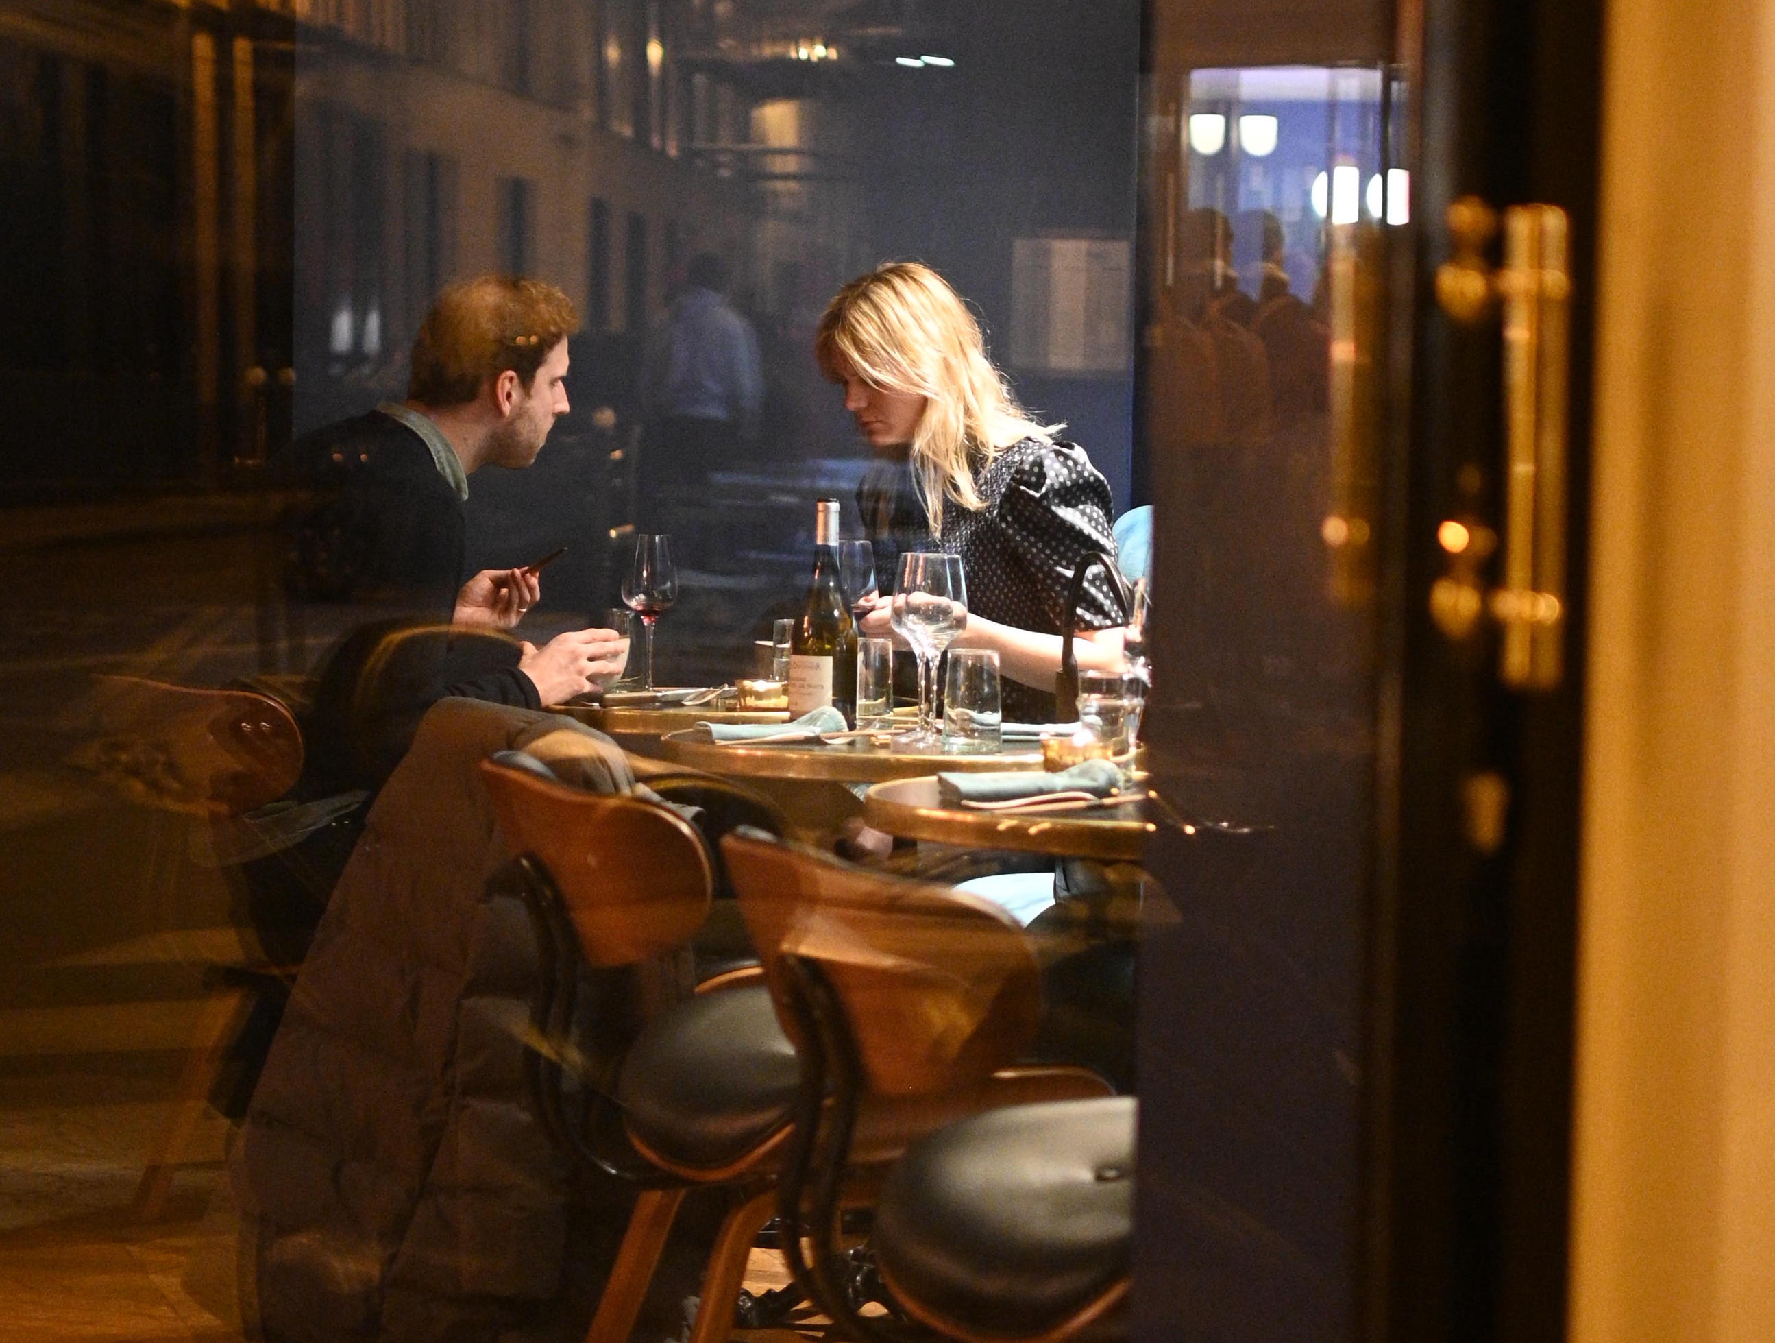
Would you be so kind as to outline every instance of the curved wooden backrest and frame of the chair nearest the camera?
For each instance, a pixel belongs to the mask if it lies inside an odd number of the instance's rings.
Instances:
[[[808,1295],[854,1325],[836,1281],[840,1215],[873,1201],[909,1144],[967,1116],[1109,1085],[1083,1068],[1015,1062],[1040,1023],[1040,968],[999,906],[760,833],[728,835],[722,849],[802,1061],[777,1188],[785,1256]]]

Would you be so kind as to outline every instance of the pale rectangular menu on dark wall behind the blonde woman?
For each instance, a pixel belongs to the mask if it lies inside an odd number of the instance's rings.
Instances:
[[[1125,238],[1017,238],[1012,366],[1074,377],[1125,375],[1131,300],[1132,247]]]

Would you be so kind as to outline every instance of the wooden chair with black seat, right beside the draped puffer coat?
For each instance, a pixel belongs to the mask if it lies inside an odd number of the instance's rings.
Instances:
[[[572,1158],[641,1185],[588,1343],[627,1343],[678,1204],[699,1185],[731,1188],[733,1206],[690,1343],[724,1343],[772,1212],[799,1068],[756,968],[692,993],[673,966],[710,913],[712,854],[659,803],[580,792],[509,757],[483,775],[545,966],[527,1055],[543,1123]],[[634,972],[632,1013],[604,995],[593,1037],[573,1029],[580,966]]]

